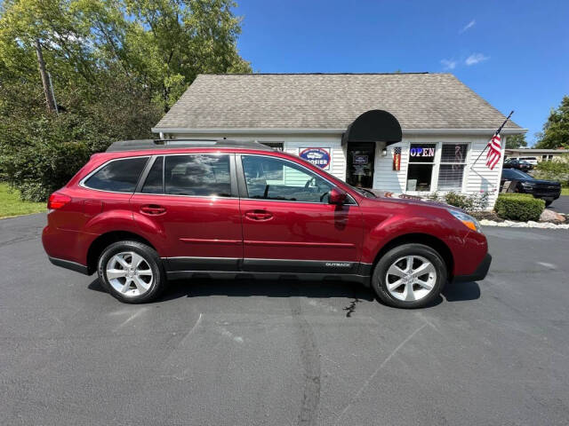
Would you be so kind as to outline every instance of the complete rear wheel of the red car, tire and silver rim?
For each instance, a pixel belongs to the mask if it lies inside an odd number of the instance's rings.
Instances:
[[[150,302],[165,286],[165,274],[156,250],[138,241],[118,241],[103,250],[99,279],[121,302]]]

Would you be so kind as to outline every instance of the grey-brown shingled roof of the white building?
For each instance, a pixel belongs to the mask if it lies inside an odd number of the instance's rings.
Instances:
[[[495,129],[505,119],[452,74],[198,75],[153,130],[346,129],[371,109],[404,131]]]

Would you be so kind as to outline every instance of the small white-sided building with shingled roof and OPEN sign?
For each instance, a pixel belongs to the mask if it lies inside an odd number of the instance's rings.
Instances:
[[[492,208],[501,162],[475,161],[504,119],[451,74],[198,75],[153,131],[257,140],[393,193],[487,191]],[[508,122],[502,146],[524,132]]]

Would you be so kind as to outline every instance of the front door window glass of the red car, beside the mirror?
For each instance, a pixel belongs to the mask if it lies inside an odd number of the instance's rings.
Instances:
[[[249,198],[328,202],[333,186],[310,170],[266,156],[244,155],[242,161]]]

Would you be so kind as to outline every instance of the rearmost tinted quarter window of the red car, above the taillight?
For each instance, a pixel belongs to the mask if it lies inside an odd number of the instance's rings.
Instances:
[[[85,180],[84,185],[101,191],[133,193],[146,162],[148,162],[148,157],[125,158],[108,162],[92,177]]]

